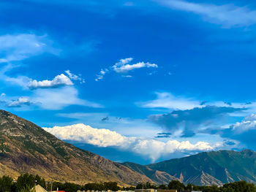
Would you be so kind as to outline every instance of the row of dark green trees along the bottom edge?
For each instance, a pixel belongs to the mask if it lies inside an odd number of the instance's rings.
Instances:
[[[75,183],[59,183],[45,182],[45,179],[33,174],[20,174],[18,180],[12,180],[12,177],[2,176],[0,177],[0,192],[31,192],[31,188],[35,185],[41,185],[47,191],[51,189],[56,191],[59,188],[60,191],[76,192],[78,190],[99,190],[99,191],[134,191],[136,189],[176,189],[180,191],[203,191],[203,192],[256,192],[256,186],[253,183],[246,183],[246,181],[238,181],[234,183],[227,183],[221,187],[217,185],[211,186],[200,186],[193,185],[191,183],[184,185],[184,183],[178,180],[172,180],[168,185],[154,185],[151,183],[140,183],[136,187],[124,187],[121,188],[116,182],[105,182],[105,183],[86,183],[85,185],[78,185]]]

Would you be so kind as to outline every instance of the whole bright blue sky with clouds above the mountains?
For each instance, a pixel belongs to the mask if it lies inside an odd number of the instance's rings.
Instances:
[[[254,1],[0,1],[0,104],[113,161],[256,150]]]

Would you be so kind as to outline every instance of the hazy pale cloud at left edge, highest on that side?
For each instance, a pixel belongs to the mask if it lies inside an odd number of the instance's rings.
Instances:
[[[47,35],[6,34],[0,36],[0,63],[20,61],[33,55],[51,53],[58,55],[60,50],[53,48]]]

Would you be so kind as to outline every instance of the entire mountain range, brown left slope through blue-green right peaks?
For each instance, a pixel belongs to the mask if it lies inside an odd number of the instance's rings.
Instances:
[[[116,181],[119,185],[223,185],[238,180],[256,183],[252,150],[203,152],[156,164],[119,164],[57,139],[34,123],[0,110],[0,175],[17,178],[29,172],[46,180],[84,184]]]

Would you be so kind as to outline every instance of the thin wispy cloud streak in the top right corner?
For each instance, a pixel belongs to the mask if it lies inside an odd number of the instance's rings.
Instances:
[[[193,12],[203,16],[210,23],[221,24],[225,27],[250,26],[256,23],[256,11],[250,10],[248,7],[236,7],[233,4],[200,4],[181,0],[155,1],[165,7]]]

